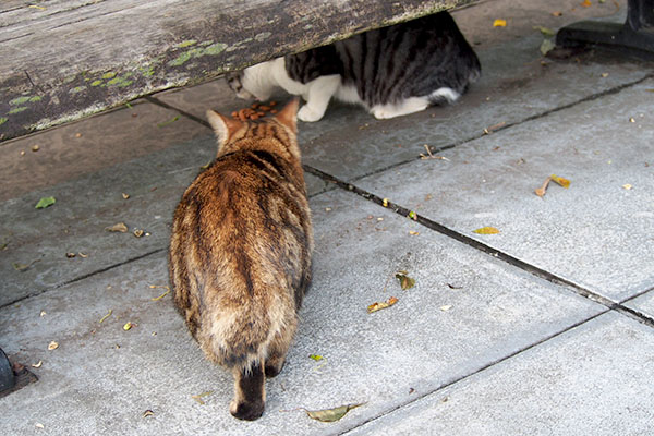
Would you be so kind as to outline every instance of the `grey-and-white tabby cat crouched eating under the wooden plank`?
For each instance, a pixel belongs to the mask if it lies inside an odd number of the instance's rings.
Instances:
[[[452,102],[481,74],[480,61],[447,12],[368,31],[228,74],[241,98],[267,100],[276,86],[301,95],[302,121],[318,121],[334,96],[378,119]]]

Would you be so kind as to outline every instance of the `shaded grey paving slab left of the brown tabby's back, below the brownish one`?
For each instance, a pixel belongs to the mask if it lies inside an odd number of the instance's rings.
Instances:
[[[213,134],[202,129],[205,135],[196,140],[149,150],[146,156],[60,183],[55,178],[48,187],[0,203],[0,276],[4,279],[0,305],[165,250],[177,203],[216,154]],[[75,171],[76,167],[63,172],[71,177]],[[311,174],[306,174],[306,184],[311,194],[327,187]],[[123,198],[123,193],[130,197]],[[36,209],[44,196],[53,196],[57,203]],[[124,222],[129,231],[105,230],[118,222]],[[135,230],[145,234],[136,238]],[[66,253],[75,257],[69,258]],[[21,270],[21,265],[29,267]]]

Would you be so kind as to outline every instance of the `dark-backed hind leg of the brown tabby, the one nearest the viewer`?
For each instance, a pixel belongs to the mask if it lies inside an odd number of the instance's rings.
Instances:
[[[261,363],[250,370],[234,368],[234,399],[229,412],[239,420],[254,421],[263,413],[266,402],[266,377]]]

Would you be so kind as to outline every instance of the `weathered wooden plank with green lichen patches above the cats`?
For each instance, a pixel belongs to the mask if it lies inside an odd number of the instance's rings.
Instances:
[[[3,1],[0,141],[473,1]]]

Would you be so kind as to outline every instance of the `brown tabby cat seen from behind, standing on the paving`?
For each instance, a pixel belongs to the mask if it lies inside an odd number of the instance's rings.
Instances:
[[[264,412],[265,377],[282,368],[311,281],[313,230],[296,141],[298,100],[241,122],[208,111],[211,166],[174,211],[174,304],[207,358],[231,370],[230,412]]]

